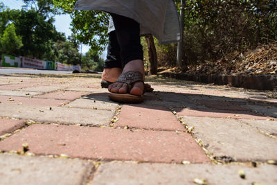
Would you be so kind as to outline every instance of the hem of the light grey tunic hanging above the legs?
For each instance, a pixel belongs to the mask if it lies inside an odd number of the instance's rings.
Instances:
[[[180,39],[179,16],[173,0],[78,0],[75,10],[101,10],[139,22],[141,35],[152,34],[161,44]],[[112,22],[109,31],[113,30]]]

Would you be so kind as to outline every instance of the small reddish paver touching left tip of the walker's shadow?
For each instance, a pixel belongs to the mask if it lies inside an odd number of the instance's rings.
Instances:
[[[82,91],[57,91],[49,94],[38,96],[38,98],[53,98],[59,100],[75,100],[80,96],[87,95],[87,92]]]

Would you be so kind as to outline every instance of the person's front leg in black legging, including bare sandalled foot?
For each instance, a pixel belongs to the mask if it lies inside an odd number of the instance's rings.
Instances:
[[[116,28],[116,36],[120,47],[123,73],[139,71],[144,78],[143,49],[141,46],[139,23],[128,17],[111,14]],[[116,82],[109,86],[113,93],[126,94],[127,85]],[[141,96],[143,94],[143,82],[136,82],[130,94]]]

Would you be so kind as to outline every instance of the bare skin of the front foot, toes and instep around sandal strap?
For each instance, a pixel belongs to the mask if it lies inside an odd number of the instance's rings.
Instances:
[[[132,60],[128,62],[122,73],[127,73],[128,71],[139,71],[143,75],[143,79],[145,78],[144,76],[144,68],[143,68],[143,61],[142,60]],[[143,95],[143,82],[135,82],[130,94],[135,95],[135,96],[141,96]],[[127,94],[128,93],[128,87],[127,84],[122,83],[122,82],[116,82],[111,85],[109,85],[109,91],[112,93],[117,93],[117,94]]]

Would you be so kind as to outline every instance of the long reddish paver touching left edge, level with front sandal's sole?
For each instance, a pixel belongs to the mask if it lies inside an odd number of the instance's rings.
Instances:
[[[11,98],[12,100],[9,100]],[[27,98],[20,96],[0,96],[1,103],[12,103],[22,105],[60,106],[68,100],[53,100],[44,98]]]

